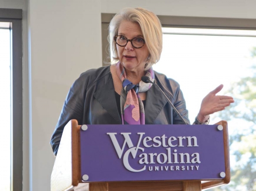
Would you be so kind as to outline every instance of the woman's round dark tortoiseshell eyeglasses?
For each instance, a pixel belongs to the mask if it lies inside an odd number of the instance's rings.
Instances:
[[[127,37],[123,35],[117,35],[114,37],[114,40],[116,41],[116,44],[119,46],[126,46],[128,41],[132,43],[132,46],[136,49],[139,49],[145,45],[145,40],[141,37],[134,37],[132,39],[128,39]]]

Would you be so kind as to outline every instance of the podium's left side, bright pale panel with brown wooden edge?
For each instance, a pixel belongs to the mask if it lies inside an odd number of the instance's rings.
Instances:
[[[51,174],[51,191],[71,191],[79,184],[79,136],[77,120],[64,127]]]

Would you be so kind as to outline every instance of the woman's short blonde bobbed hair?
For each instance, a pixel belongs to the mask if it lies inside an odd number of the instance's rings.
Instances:
[[[143,8],[124,8],[117,13],[109,23],[109,50],[114,62],[118,62],[117,45],[114,36],[118,34],[118,29],[122,21],[137,22],[142,30],[145,44],[150,53],[147,61],[148,70],[153,64],[160,60],[162,52],[162,25],[158,17],[151,11]]]

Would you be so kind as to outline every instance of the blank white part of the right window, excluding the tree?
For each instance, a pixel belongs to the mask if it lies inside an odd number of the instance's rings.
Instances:
[[[221,91],[224,94],[232,82],[251,73],[255,30],[169,27],[162,30],[163,51],[153,68],[179,82],[191,122],[206,94],[220,84],[224,85]]]

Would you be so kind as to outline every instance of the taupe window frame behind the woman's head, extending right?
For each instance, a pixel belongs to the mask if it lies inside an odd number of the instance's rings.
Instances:
[[[102,66],[110,63],[108,45],[108,26],[114,13],[102,13]],[[218,18],[218,17],[189,17],[158,15],[162,27],[201,28],[201,29],[232,29],[256,30],[256,19]]]

